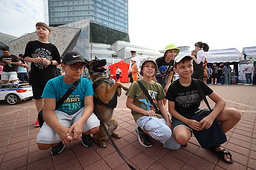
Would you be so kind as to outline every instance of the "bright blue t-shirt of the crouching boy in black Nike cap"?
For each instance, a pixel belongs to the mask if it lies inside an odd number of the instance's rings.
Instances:
[[[66,84],[63,80],[63,76],[64,75],[49,80],[45,85],[42,97],[56,98],[56,102],[59,101],[72,85]],[[84,97],[91,96],[93,94],[92,83],[88,79],[81,77],[81,81],[77,85],[76,89],[72,94],[70,94],[70,96],[68,96],[63,104],[57,108],[57,110],[63,111],[67,113],[67,115],[74,115],[74,113],[83,108]]]

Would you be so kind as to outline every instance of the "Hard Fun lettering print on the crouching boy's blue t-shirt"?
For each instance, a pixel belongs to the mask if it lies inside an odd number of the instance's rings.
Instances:
[[[83,107],[83,101],[80,101],[79,95],[70,95],[61,105],[61,111],[67,115],[74,115]]]

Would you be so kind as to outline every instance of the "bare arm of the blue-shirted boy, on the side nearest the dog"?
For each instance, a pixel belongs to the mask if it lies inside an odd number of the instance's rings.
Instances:
[[[93,112],[93,95],[84,97],[84,110],[83,115],[77,122],[75,122],[69,130],[69,134],[74,132],[73,141],[80,139],[82,137],[83,125],[88,120],[88,118],[92,115]]]

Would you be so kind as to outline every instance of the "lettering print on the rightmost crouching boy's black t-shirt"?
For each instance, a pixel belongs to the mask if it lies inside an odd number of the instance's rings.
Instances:
[[[175,101],[184,108],[189,108],[193,104],[200,104],[200,97],[198,90],[192,90],[188,92],[180,92]]]

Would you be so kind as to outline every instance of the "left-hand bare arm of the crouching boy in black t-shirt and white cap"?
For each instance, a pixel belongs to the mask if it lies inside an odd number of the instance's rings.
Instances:
[[[172,101],[168,101],[168,110],[169,113],[179,119],[180,121],[184,122],[185,124],[187,124],[189,127],[191,127],[192,129],[195,129],[196,131],[199,131],[201,126],[199,125],[199,122],[197,122],[196,120],[192,120],[186,117],[182,117],[182,115],[180,115],[176,110],[175,110],[175,103]]]

